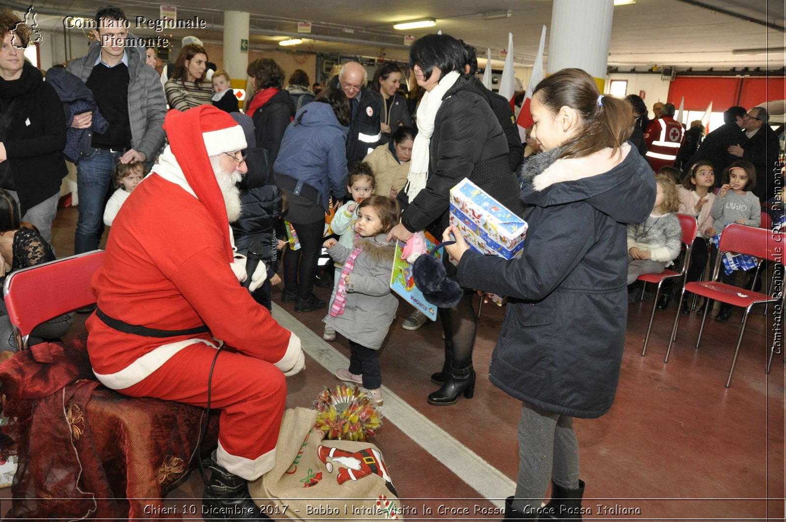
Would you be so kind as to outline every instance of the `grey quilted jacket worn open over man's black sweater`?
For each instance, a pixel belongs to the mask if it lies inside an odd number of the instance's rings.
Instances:
[[[136,38],[128,34],[129,39]],[[87,54],[68,64],[68,71],[87,82],[101,45],[94,42]],[[145,168],[163,145],[163,116],[167,114],[167,99],[163,95],[161,79],[156,70],[145,64],[145,51],[141,47],[126,47],[128,53],[128,120],[131,127],[131,148],[145,156]]]

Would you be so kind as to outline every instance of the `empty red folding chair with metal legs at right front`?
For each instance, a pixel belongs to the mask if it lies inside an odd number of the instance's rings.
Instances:
[[[674,318],[674,328],[671,330],[671,337],[669,340],[669,347],[666,351],[666,358],[663,362],[669,362],[669,354],[671,345],[677,338],[677,329],[680,322],[679,309],[682,305],[682,300],[685,299],[685,292],[693,292],[696,295],[704,296],[708,300],[718,300],[722,303],[728,303],[737,307],[744,307],[745,313],[743,315],[742,324],[740,325],[740,334],[737,336],[736,349],[734,351],[734,358],[732,359],[732,366],[729,369],[729,378],[726,380],[726,388],[732,381],[732,374],[734,373],[734,365],[736,364],[737,355],[740,354],[740,346],[742,345],[743,336],[745,335],[745,326],[747,325],[747,317],[751,312],[751,307],[758,303],[775,303],[782,298],[780,296],[770,297],[761,292],[754,292],[752,290],[743,289],[739,286],[726,285],[719,282],[721,264],[725,252],[732,252],[736,254],[747,254],[758,258],[758,264],[762,263],[762,259],[770,259],[772,261],[780,262],[783,258],[783,234],[773,233],[772,230],[765,230],[756,228],[754,226],[745,226],[733,223],[725,229],[721,234],[721,241],[718,244],[718,259],[715,260],[715,267],[711,281],[693,281],[685,284],[680,296],[680,303],[677,307],[677,316]],[[781,278],[783,275],[781,274]],[[704,331],[704,322],[707,321],[708,312],[703,315],[701,320],[701,328],[699,330],[699,337],[696,339],[696,349],[699,348],[701,342],[701,334]],[[769,361],[767,362],[766,372],[769,373],[769,367],[773,362],[773,353],[775,347],[775,340],[773,340],[773,347],[770,349]]]

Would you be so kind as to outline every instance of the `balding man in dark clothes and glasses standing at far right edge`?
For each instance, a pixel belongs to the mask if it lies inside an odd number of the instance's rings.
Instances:
[[[775,195],[775,168],[778,161],[778,136],[769,125],[766,108],[751,108],[743,116],[742,127],[747,141],[729,146],[729,154],[748,160],[756,167],[756,186],[753,193],[764,203]]]

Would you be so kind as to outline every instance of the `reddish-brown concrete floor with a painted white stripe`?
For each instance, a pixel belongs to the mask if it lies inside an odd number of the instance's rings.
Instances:
[[[58,214],[53,243],[70,255],[75,208]],[[316,289],[322,299],[329,289]],[[274,289],[274,317],[303,339],[307,369],[288,378],[288,407],[309,407],[333,371],[347,364],[347,341],[321,340],[324,311],[299,314]],[[612,410],[599,419],[575,420],[586,482],[583,505],[594,520],[784,520],[784,362],[766,359],[772,312],[755,308],[730,388],[725,380],[740,324],[740,310],[720,323],[707,319],[702,346],[693,348],[700,316],[681,320],[678,342],[663,363],[674,304],[657,311],[646,357],[641,357],[652,299],[630,306],[626,348]],[[484,305],[473,355],[475,397],[455,406],[430,406],[429,376],[442,366],[439,323],[406,331],[410,314],[399,307],[380,352],[384,376],[384,426],[374,441],[382,450],[410,520],[494,520],[473,513],[501,506],[512,494],[518,469],[516,424],[520,403],[486,377],[504,307]],[[83,321],[83,320],[82,320]],[[79,329],[81,323],[75,325]],[[167,504],[200,506],[198,472],[172,491]],[[10,507],[0,490],[0,513]],[[469,508],[469,514],[441,514]],[[475,506],[478,506],[477,508]],[[428,513],[425,508],[431,508]],[[628,513],[626,513],[626,509]],[[310,519],[318,520],[318,519]]]

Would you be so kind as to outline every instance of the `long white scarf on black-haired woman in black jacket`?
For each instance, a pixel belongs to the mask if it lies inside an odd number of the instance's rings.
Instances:
[[[417,108],[417,136],[412,145],[410,174],[406,177],[407,182],[404,187],[404,192],[410,201],[415,199],[417,193],[421,192],[428,182],[428,148],[434,134],[434,120],[439,107],[442,106],[443,96],[456,83],[458,77],[457,71],[447,73],[430,92],[423,95],[421,105]]]

